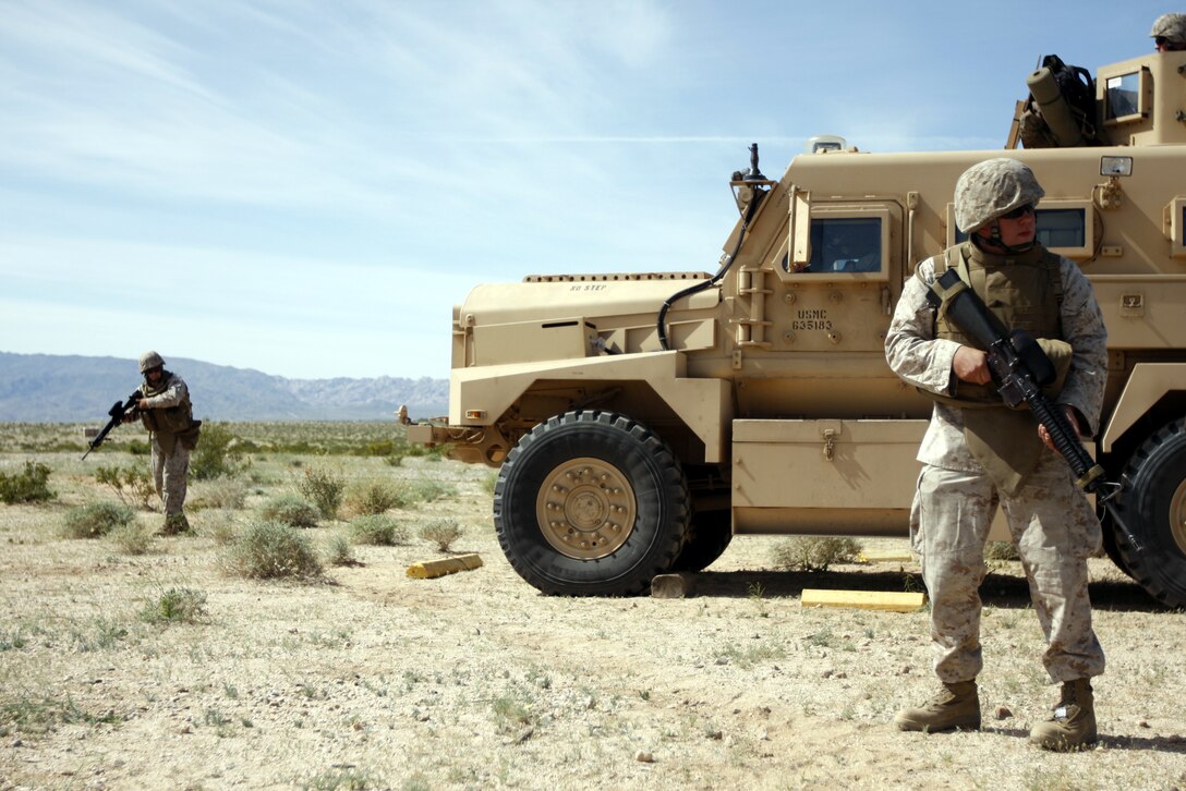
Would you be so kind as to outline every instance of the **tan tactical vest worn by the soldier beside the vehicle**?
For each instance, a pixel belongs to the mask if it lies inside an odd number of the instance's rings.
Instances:
[[[1040,339],[1063,339],[1063,278],[1057,255],[1039,244],[1016,256],[991,255],[969,241],[936,259],[936,279],[948,268],[959,273],[1006,327],[1028,330]],[[981,349],[948,318],[945,306],[936,315],[935,337]],[[950,397],[932,397],[963,409],[968,449],[999,489],[1015,495],[1045,449],[1033,415],[1009,409],[990,384],[957,379]]]

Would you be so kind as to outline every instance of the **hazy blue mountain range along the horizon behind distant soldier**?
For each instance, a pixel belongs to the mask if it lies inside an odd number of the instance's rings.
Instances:
[[[448,413],[448,381],[391,376],[288,379],[261,371],[166,358],[190,388],[199,420],[388,420]],[[0,352],[0,422],[87,422],[140,385],[136,361]]]

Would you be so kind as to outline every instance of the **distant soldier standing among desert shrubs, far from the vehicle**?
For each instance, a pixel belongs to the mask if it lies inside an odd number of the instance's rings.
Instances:
[[[190,389],[180,376],[165,370],[160,355],[154,351],[141,355],[140,372],[145,377],[140,388],[144,397],[136,403],[135,415],[152,436],[153,480],[165,506],[161,532],[186,532],[190,523],[184,508],[190,451],[197,446],[202,421],[193,420]]]

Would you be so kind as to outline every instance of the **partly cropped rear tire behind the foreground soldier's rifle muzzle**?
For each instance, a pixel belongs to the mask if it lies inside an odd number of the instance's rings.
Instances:
[[[1124,568],[1167,607],[1186,607],[1186,421],[1175,420],[1136,449],[1124,471],[1124,523],[1136,550],[1116,535]]]

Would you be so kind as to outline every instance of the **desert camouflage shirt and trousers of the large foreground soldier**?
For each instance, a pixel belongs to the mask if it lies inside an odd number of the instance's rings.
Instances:
[[[918,266],[904,289],[886,338],[886,357],[900,377],[940,396],[952,395],[959,344],[936,338],[926,300],[939,256]],[[1059,260],[1064,339],[1073,357],[1058,402],[1076,407],[1095,433],[1103,403],[1107,331],[1095,294],[1078,267]],[[971,454],[964,410],[936,402],[918,452],[923,472],[911,513],[911,540],[923,556],[931,597],[935,671],[945,683],[973,680],[982,666],[981,601],[984,542],[997,505],[1021,555],[1031,598],[1047,639],[1044,664],[1056,682],[1103,672],[1104,655],[1091,629],[1086,559],[1101,542],[1099,523],[1076,487],[1066,461],[1042,446],[1033,473],[1013,495],[1000,491]],[[1037,432],[1037,423],[1034,425]]]

